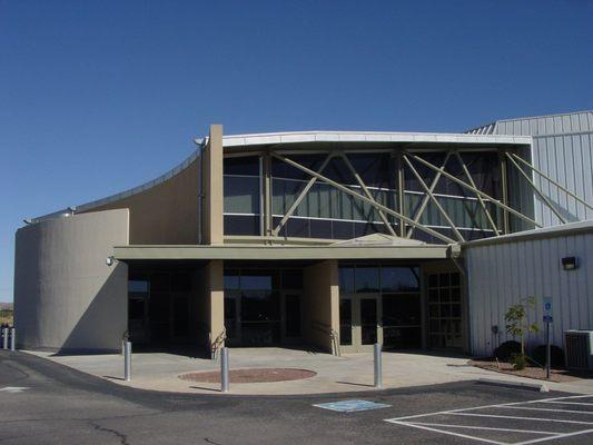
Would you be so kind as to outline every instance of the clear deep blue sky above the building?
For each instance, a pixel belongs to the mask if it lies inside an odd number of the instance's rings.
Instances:
[[[463,131],[593,108],[593,1],[0,0],[0,301],[22,218],[225,132]]]

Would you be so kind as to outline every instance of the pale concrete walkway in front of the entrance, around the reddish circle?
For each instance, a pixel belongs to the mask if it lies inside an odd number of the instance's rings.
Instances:
[[[166,353],[138,353],[132,358],[132,380],[125,382],[121,355],[55,355],[29,352],[75,369],[109,379],[120,385],[142,389],[196,394],[219,394],[219,384],[181,380],[178,375],[189,372],[217,370],[219,363]],[[230,383],[230,394],[298,395],[347,393],[373,389],[373,355],[329,354],[284,348],[231,348],[230,368],[299,368],[317,373],[302,380],[275,383]],[[434,354],[383,354],[384,388],[435,385],[481,377],[507,382],[543,383],[468,366],[467,357]],[[546,383],[550,389],[593,394],[593,380]]]

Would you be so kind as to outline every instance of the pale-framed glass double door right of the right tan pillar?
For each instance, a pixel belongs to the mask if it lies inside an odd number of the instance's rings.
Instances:
[[[375,343],[382,343],[380,303],[378,294],[355,294],[340,298],[339,339],[344,353],[369,352]]]

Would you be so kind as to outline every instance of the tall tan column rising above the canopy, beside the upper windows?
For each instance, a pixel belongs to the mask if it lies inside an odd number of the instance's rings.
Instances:
[[[210,137],[202,152],[204,244],[223,244],[223,126],[210,126]]]

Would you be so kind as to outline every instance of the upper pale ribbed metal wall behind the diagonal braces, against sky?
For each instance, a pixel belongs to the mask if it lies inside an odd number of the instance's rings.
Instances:
[[[593,112],[575,112],[498,121],[497,135],[533,136],[533,165],[593,202]],[[593,218],[593,210],[534,174],[535,184],[569,221]],[[535,197],[535,220],[544,227],[561,224],[550,208]]]

